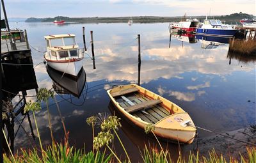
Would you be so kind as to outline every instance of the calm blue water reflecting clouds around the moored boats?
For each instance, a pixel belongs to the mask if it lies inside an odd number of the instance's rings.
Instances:
[[[90,31],[93,31],[96,70],[92,60],[84,59],[86,84],[79,98],[73,95],[56,95],[60,101],[61,114],[69,130],[70,143],[77,148],[92,149],[92,128],[86,118],[97,113],[115,110],[106,89],[116,84],[136,83],[138,78],[138,43],[134,40],[141,35],[141,86],[162,95],[164,98],[187,111],[195,125],[216,132],[227,132],[255,123],[255,62],[228,58],[228,43],[212,46],[202,40],[191,40],[170,35],[168,23],[159,24],[69,24],[56,26],[52,23],[11,24],[12,27],[27,29],[29,43],[35,49],[45,51],[46,35],[74,33],[77,43],[83,47],[82,27],[86,29],[86,45],[90,44]],[[183,41],[181,41],[183,39]],[[170,43],[170,48],[169,48]],[[90,46],[88,53],[91,55]],[[206,49],[205,49],[206,47]],[[212,49],[210,49],[212,47]],[[43,53],[32,49],[33,63],[44,61]],[[245,59],[246,60],[246,59]],[[255,59],[254,59],[255,61]],[[39,88],[51,89],[53,82],[47,74],[44,64],[35,68]],[[35,95],[35,91],[28,91]],[[28,98],[27,100],[35,100]],[[63,140],[63,128],[56,105],[50,101],[51,121],[54,137]],[[47,111],[36,114],[43,143],[51,143],[47,123]],[[31,118],[33,123],[33,118]],[[28,120],[24,127],[30,133]],[[122,121],[120,137],[132,155],[132,160],[140,159],[140,150],[144,143],[155,144],[139,128]],[[15,125],[17,129],[18,125]],[[36,134],[35,124],[33,129]],[[198,130],[198,137],[210,136]],[[118,141],[116,151],[122,155]],[[166,144],[177,153],[177,145]],[[15,147],[29,147],[29,141],[22,130],[15,138]],[[188,146],[183,146],[185,150]]]

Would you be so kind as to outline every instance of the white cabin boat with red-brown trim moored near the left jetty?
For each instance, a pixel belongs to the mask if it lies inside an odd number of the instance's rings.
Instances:
[[[83,67],[84,49],[78,49],[75,35],[49,35],[44,38],[47,42],[44,54],[47,65],[76,77]]]

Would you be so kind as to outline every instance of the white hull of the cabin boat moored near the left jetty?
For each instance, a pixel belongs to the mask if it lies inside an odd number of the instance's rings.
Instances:
[[[47,64],[58,70],[60,72],[65,72],[65,74],[70,74],[73,76],[77,76],[83,67],[83,59],[79,61],[67,61],[67,62],[56,62],[56,61],[47,61]]]

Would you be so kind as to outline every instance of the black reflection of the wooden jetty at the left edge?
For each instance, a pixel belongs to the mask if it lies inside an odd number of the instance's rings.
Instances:
[[[33,60],[29,52],[26,56],[22,56],[21,54],[7,55],[1,58],[1,62],[3,83],[2,107],[3,113],[6,115],[6,119],[3,119],[3,130],[8,133],[6,134],[8,135],[7,141],[13,152],[15,136],[20,129],[20,126],[17,127],[17,125],[15,125],[15,121],[19,120],[19,118],[22,118],[22,121],[19,123],[22,123],[25,118],[28,120],[28,130],[26,134],[28,134],[28,132],[31,133],[31,136],[35,140],[30,116],[29,113],[24,113],[24,107],[29,100],[29,97],[26,95],[31,91],[33,91],[35,95],[38,85],[33,68]],[[3,141],[3,150],[5,153],[10,153],[6,141]]]

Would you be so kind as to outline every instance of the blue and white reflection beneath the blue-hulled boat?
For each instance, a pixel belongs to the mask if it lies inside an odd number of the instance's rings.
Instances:
[[[195,35],[195,38],[202,43],[202,49],[216,49],[220,45],[225,45],[225,43],[229,43],[229,39],[227,37],[216,37],[216,36],[203,36],[203,35]]]

